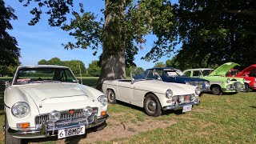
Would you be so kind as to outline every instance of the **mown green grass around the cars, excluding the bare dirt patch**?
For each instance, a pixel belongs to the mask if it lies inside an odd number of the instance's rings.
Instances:
[[[94,86],[98,78],[83,78],[83,83]],[[3,88],[0,89],[0,126],[4,124]],[[118,102],[110,104],[110,117],[118,122],[144,122],[147,119],[177,123],[109,142],[97,143],[256,143],[256,93],[216,96],[204,94],[201,104],[181,114],[167,111],[158,118],[147,116],[143,109]],[[108,123],[108,126],[113,123]],[[154,126],[154,125],[152,125]],[[4,142],[0,134],[0,143]],[[57,143],[57,142],[45,142]]]

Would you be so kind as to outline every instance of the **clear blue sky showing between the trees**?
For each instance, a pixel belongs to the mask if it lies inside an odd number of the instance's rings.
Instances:
[[[42,18],[35,26],[27,25],[33,15],[30,14],[30,10],[33,5],[24,7],[18,0],[7,0],[6,5],[14,8],[15,13],[18,16],[18,20],[11,21],[13,30],[9,31],[11,36],[14,36],[18,41],[18,47],[21,48],[20,62],[22,65],[37,65],[41,59],[50,60],[50,58],[58,57],[62,61],[66,60],[81,60],[85,63],[86,68],[93,60],[98,60],[98,56],[102,53],[102,49],[98,49],[98,54],[93,55],[94,50],[88,49],[74,49],[65,50],[62,43],[74,42],[74,38],[71,37],[68,32],[61,30],[58,27],[50,27],[48,25],[48,16],[42,14]],[[74,0],[74,2],[79,2]],[[80,1],[82,2],[82,1]],[[175,0],[175,2],[177,2]],[[84,8],[86,11],[94,12],[98,14],[98,18],[103,15],[101,9],[105,7],[103,0],[87,0],[84,1]],[[78,3],[77,3],[78,4]],[[78,5],[77,5],[78,6]],[[146,62],[141,60],[150,48],[153,46],[153,36],[146,36],[146,45],[143,46],[143,50],[139,50],[135,56],[135,63],[137,66],[143,69],[148,69],[154,66],[154,62]],[[158,62],[166,62],[168,57],[162,57]]]

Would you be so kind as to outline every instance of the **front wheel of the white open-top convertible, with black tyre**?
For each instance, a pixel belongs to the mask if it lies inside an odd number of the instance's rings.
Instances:
[[[146,114],[158,117],[162,114],[162,107],[158,98],[154,94],[147,94],[144,99],[144,110]]]

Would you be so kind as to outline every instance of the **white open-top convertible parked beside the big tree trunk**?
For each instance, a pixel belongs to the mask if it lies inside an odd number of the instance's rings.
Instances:
[[[199,104],[201,89],[186,84],[162,82],[154,70],[134,71],[131,80],[104,81],[103,93],[110,103],[116,100],[143,107],[146,114],[157,117],[162,110],[190,111]]]

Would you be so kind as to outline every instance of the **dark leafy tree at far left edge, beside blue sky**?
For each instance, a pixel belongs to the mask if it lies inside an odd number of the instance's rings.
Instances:
[[[20,49],[18,42],[7,30],[12,30],[10,24],[11,19],[17,19],[14,14],[14,9],[10,6],[5,6],[4,1],[0,1],[0,68],[2,66],[17,66],[18,58],[20,57]]]

